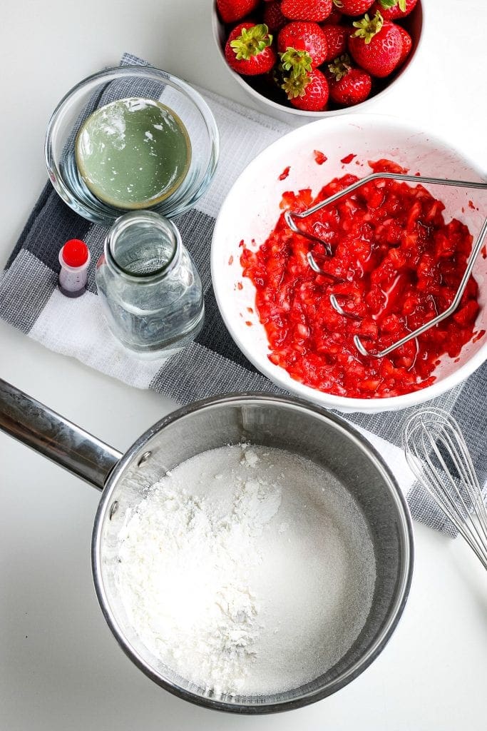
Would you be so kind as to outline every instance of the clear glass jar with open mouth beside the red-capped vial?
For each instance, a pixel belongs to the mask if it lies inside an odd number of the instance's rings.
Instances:
[[[202,282],[175,224],[151,211],[120,216],[96,265],[112,333],[138,356],[164,357],[202,329]]]

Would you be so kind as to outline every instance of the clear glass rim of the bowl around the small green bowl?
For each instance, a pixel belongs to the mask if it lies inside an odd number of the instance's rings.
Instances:
[[[167,71],[164,71],[164,69],[158,69],[157,67],[143,64],[126,64],[123,66],[120,65],[107,67],[105,69],[94,72],[93,74],[85,76],[83,79],[74,84],[74,86],[72,86],[69,91],[66,91],[66,94],[64,94],[64,96],[55,106],[53,113],[50,115],[45,133],[44,159],[50,182],[52,183],[55,192],[57,192],[61,199],[64,200],[66,205],[69,205],[69,207],[72,208],[73,211],[78,213],[78,215],[82,216],[84,219],[101,225],[111,225],[123,213],[127,213],[127,211],[134,209],[116,209],[112,207],[113,214],[111,212],[107,212],[107,215],[103,216],[101,213],[96,213],[94,210],[92,211],[91,209],[87,208],[84,202],[80,201],[79,197],[73,192],[71,186],[66,183],[64,175],[62,175],[61,171],[59,170],[58,162],[55,159],[55,155],[53,154],[53,138],[58,132],[58,129],[63,121],[64,113],[69,110],[69,105],[71,104],[74,96],[76,96],[80,91],[83,91],[83,89],[85,89],[87,86],[90,86],[91,84],[94,85],[93,91],[95,91],[96,83],[108,83],[109,81],[116,80],[116,77],[123,77],[125,75],[134,77],[147,77],[155,81],[160,81],[161,83],[169,83],[169,86],[172,86],[172,88],[180,91],[187,99],[189,99],[193,103],[194,107],[196,107],[196,109],[199,111],[202,117],[202,121],[207,128],[209,156],[207,165],[205,169],[202,170],[199,185],[193,185],[193,190],[191,194],[185,197],[184,205],[178,205],[177,210],[175,211],[169,211],[164,213],[158,211],[157,205],[150,206],[150,209],[148,210],[156,211],[156,213],[161,213],[164,216],[174,217],[180,215],[180,213],[183,213],[184,211],[187,211],[188,208],[192,208],[196,201],[202,197],[202,195],[204,194],[204,192],[206,192],[208,186],[210,185],[212,178],[215,175],[215,171],[218,167],[218,159],[220,156],[220,132],[218,131],[215,116],[213,115],[210,106],[204,100],[202,94],[200,94],[199,91],[196,90],[196,88],[191,86],[191,84],[184,79],[175,76],[174,74],[171,74]],[[96,111],[99,108],[100,107],[96,107],[93,111]],[[75,143],[75,139],[76,137],[74,137],[73,145]],[[166,202],[167,200],[169,200],[169,197],[166,198],[163,202]]]

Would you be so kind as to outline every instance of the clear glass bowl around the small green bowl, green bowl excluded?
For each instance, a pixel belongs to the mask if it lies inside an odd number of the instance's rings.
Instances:
[[[80,81],[61,99],[47,125],[45,140],[45,162],[55,191],[88,221],[110,226],[129,209],[110,205],[88,189],[76,163],[77,134],[94,110],[134,96],[164,103],[183,122],[191,141],[191,162],[182,183],[164,200],[151,205],[151,211],[168,218],[183,213],[199,200],[215,174],[218,128],[201,94],[161,69],[144,66],[106,69]]]

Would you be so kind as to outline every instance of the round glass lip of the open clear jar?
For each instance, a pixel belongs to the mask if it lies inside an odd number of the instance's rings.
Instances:
[[[151,224],[153,224],[154,227],[158,228],[159,230],[164,230],[164,232],[167,232],[167,230],[169,230],[173,237],[174,247],[172,249],[171,257],[163,266],[151,271],[150,273],[137,273],[129,271],[128,269],[124,268],[123,265],[120,264],[120,262],[118,262],[114,251],[112,251],[112,245],[115,235],[119,235],[120,232],[123,232],[134,223],[141,220],[143,221],[144,219],[146,221],[149,221]],[[104,242],[104,254],[107,265],[124,278],[129,279],[130,281],[138,282],[156,281],[157,279],[164,279],[164,277],[170,271],[172,271],[172,269],[175,268],[175,265],[180,258],[182,244],[183,242],[181,240],[181,234],[179,229],[172,221],[166,219],[165,216],[161,216],[160,213],[156,213],[155,211],[130,211],[129,213],[123,213],[122,216],[119,216],[119,218],[110,228],[110,231],[107,233]]]

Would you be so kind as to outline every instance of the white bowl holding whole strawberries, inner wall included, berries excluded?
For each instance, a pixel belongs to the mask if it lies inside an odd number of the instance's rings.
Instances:
[[[225,43],[228,30],[226,30],[226,27],[223,25],[220,18],[218,17],[218,12],[216,10],[216,0],[213,0],[212,4],[212,31],[213,38],[215,39],[215,45],[218,48],[219,55],[223,61],[223,64],[225,64],[227,71],[235,80],[235,82],[240,86],[240,88],[242,88],[243,91],[245,91],[245,93],[248,94],[254,102],[256,102],[258,107],[261,107],[261,110],[263,112],[271,114],[273,117],[279,118],[283,121],[289,121],[291,117],[304,118],[307,121],[312,121],[321,117],[331,117],[337,114],[349,114],[350,111],[354,110],[362,112],[369,108],[371,105],[373,105],[376,99],[380,99],[385,96],[393,86],[396,86],[397,83],[400,83],[400,79],[404,77],[404,73],[406,73],[407,70],[410,69],[413,61],[415,61],[416,57],[418,56],[418,48],[423,38],[423,15],[423,5],[421,4],[421,0],[419,0],[413,12],[411,12],[410,15],[407,15],[407,17],[404,18],[404,23],[402,23],[402,25],[404,25],[404,28],[410,33],[410,36],[413,39],[413,48],[411,49],[407,61],[405,61],[404,65],[399,69],[399,71],[392,74],[390,79],[383,80],[383,82],[385,83],[383,88],[381,88],[380,91],[375,92],[373,96],[369,96],[369,99],[366,99],[365,102],[361,102],[361,104],[356,104],[353,107],[345,107],[342,109],[330,109],[326,112],[307,112],[305,110],[291,107],[291,105],[281,104],[278,101],[277,95],[276,99],[270,99],[269,96],[266,96],[265,93],[261,93],[262,84],[260,77],[244,77],[237,74],[237,72],[229,67],[229,64],[227,64],[225,58]],[[353,20],[355,20],[355,18],[353,18]],[[239,22],[242,21],[230,23],[228,28],[231,29]]]

